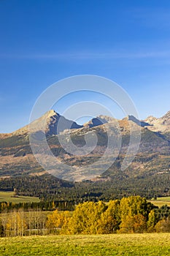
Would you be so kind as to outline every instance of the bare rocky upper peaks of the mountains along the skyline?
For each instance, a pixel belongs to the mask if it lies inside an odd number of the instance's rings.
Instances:
[[[55,110],[49,110],[44,115],[36,120],[32,121],[31,124],[27,124],[20,129],[15,130],[14,132],[9,133],[0,133],[0,139],[5,138],[12,135],[22,135],[28,133],[29,127],[31,127],[32,132],[44,129],[45,124],[45,133],[46,135],[57,135],[57,125],[59,119],[61,120],[62,129],[59,129],[58,132],[63,132],[64,129],[80,129],[82,127],[93,128],[98,125],[107,124],[112,121],[121,121],[127,119],[128,121],[133,121],[141,127],[150,129],[154,132],[170,132],[170,110],[162,117],[156,118],[154,116],[148,116],[144,120],[139,120],[132,115],[125,116],[123,119],[113,118],[111,116],[96,116],[96,118],[90,119],[85,124],[77,124],[76,121],[69,120],[64,116],[61,116],[59,113],[55,112]],[[45,121],[46,120],[46,121]]]

